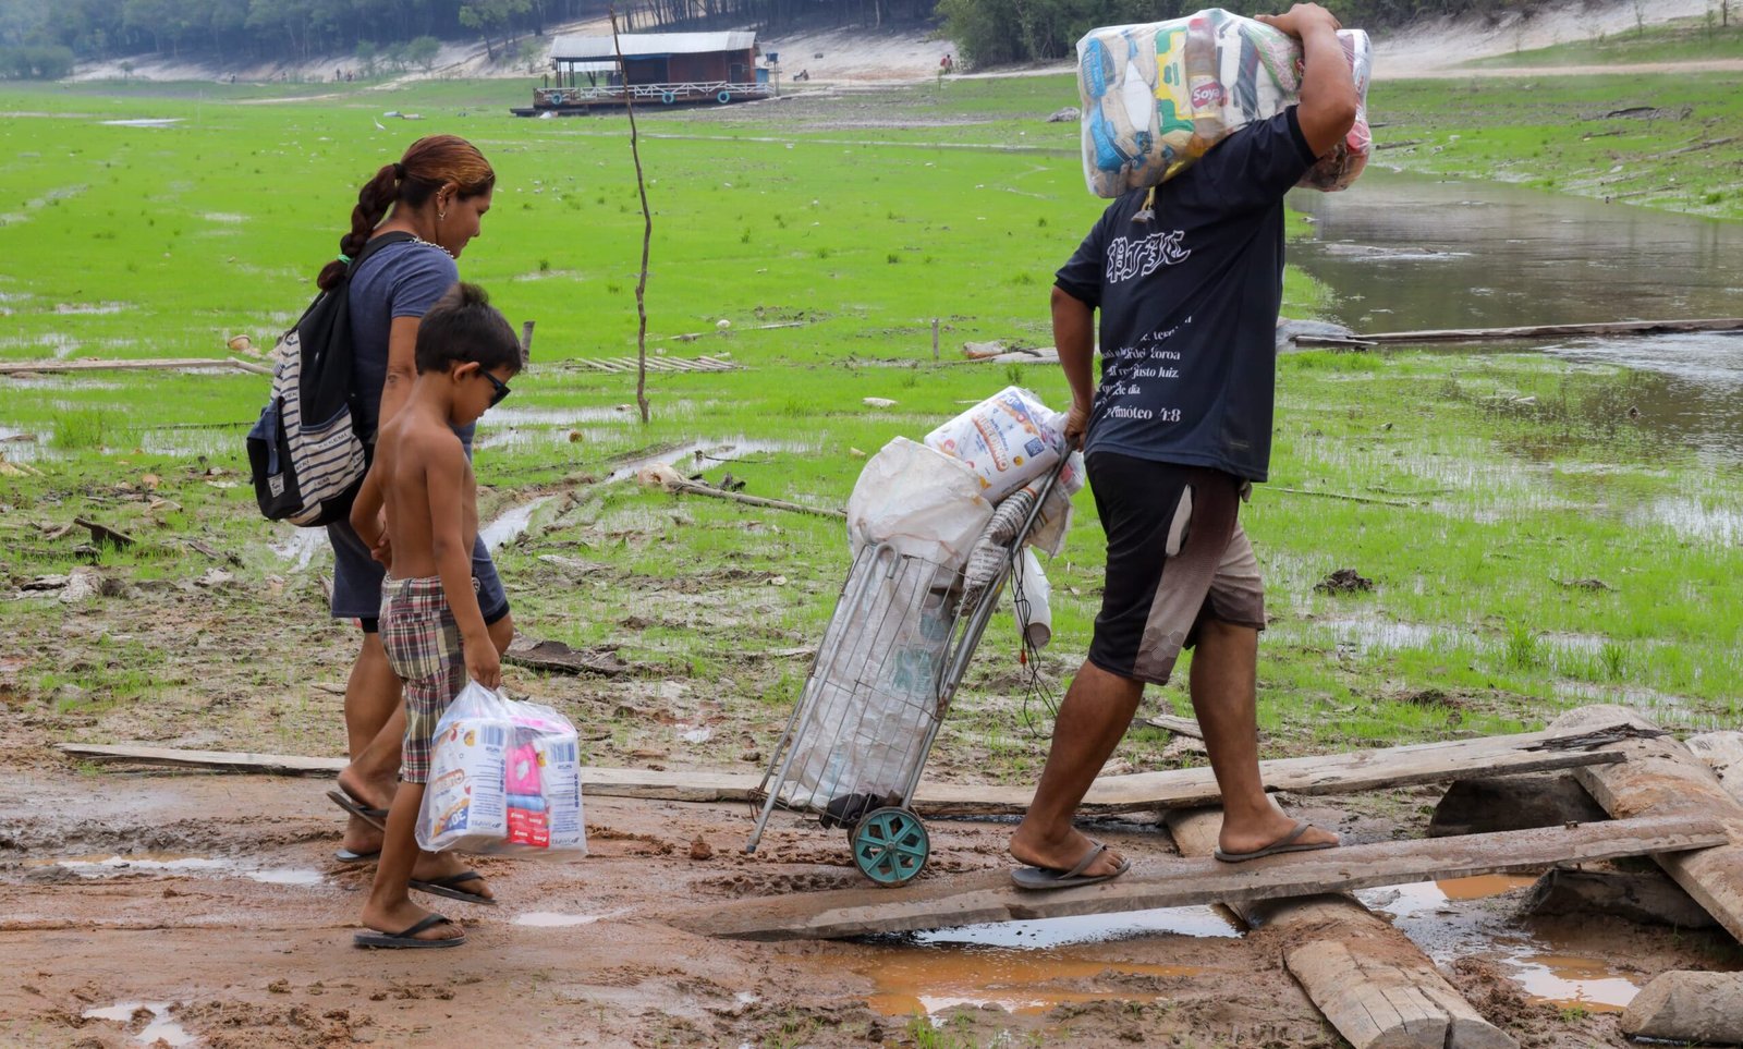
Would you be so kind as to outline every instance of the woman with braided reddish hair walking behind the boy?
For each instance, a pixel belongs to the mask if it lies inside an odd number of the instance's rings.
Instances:
[[[321,270],[317,284],[343,279],[350,256],[375,237],[410,233],[370,254],[350,275],[352,383],[359,399],[357,427],[373,443],[382,423],[406,404],[417,382],[418,324],[455,286],[455,260],[478,237],[490,211],[497,173],[464,138],[432,134],[411,143],[396,164],[383,164],[357,192],[350,232],[340,256]],[[385,216],[385,221],[383,221]],[[472,425],[458,430],[471,450]],[[389,521],[390,524],[390,521]],[[349,523],[328,526],[333,545],[333,617],[356,620],[363,645],[345,683],[345,737],[350,765],[329,796],[350,812],[342,863],[368,863],[382,847],[382,831],[399,774],[406,711],[401,681],[380,638],[383,565]],[[509,598],[481,540],[472,542],[472,579],[485,626],[498,650],[514,638]],[[453,856],[418,859],[413,876],[441,896],[485,901],[490,889]]]

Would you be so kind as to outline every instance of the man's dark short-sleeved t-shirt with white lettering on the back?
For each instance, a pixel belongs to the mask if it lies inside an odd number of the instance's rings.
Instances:
[[[1055,275],[1102,310],[1102,385],[1084,451],[1271,465],[1283,195],[1314,164],[1295,106],[1248,124],[1156,190],[1109,204]]]

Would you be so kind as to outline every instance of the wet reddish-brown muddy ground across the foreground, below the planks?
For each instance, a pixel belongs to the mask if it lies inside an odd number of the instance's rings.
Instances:
[[[0,1044],[1339,1044],[1278,944],[1204,936],[1218,931],[1208,910],[1170,918],[1185,932],[1028,951],[688,934],[690,908],[859,883],[838,835],[797,817],[746,856],[751,822],[737,805],[591,798],[589,857],[479,864],[502,904],[443,908],[469,929],[465,946],[357,951],[370,871],[331,859],[340,821],[324,788],[14,760],[0,774],[0,965],[14,974],[0,985]],[[1377,796],[1367,816],[1302,809],[1372,840],[1431,796]],[[1100,829],[1138,856],[1166,850],[1154,824]],[[1006,863],[1006,824],[934,821],[933,835],[922,876]],[[1448,922],[1509,922],[1504,901],[1452,906],[1464,918]],[[1642,981],[1712,948],[1637,927],[1583,934],[1588,950],[1626,943]],[[1621,1044],[1614,1016],[1529,1002],[1480,951],[1448,976],[1523,1046]],[[953,995],[1016,1011],[948,1007]],[[912,1018],[922,1005],[939,1028]],[[125,1019],[89,1016],[99,1011]]]

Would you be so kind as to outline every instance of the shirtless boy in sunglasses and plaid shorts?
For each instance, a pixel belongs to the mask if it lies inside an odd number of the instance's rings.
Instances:
[[[375,462],[350,511],[352,528],[387,551],[382,636],[406,683],[401,784],[387,810],[382,861],[354,943],[363,948],[446,948],[465,931],[411,903],[411,876],[429,859],[418,849],[418,805],[431,777],[436,727],[465,688],[502,685],[502,662],[472,580],[478,483],[458,430],[509,396],[521,343],[490,298],[455,284],[418,326],[417,382],[382,423]]]

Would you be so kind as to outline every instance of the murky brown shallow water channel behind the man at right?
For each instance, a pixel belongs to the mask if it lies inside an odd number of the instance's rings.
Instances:
[[[1504,183],[1370,169],[1342,193],[1295,192],[1314,235],[1290,260],[1356,331],[1743,315],[1743,223]],[[1448,349],[1471,352],[1473,347]],[[1492,342],[1640,375],[1638,423],[1743,460],[1743,335]]]

